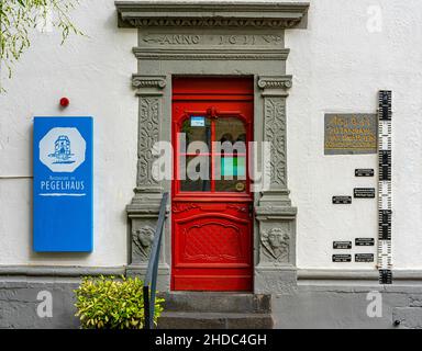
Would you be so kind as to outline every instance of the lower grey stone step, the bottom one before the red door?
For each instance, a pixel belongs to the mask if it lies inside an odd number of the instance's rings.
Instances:
[[[166,312],[158,329],[271,329],[269,314]]]

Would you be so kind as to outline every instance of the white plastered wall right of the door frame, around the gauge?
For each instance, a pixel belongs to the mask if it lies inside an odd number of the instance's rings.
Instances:
[[[381,27],[377,27],[377,15]],[[422,268],[422,2],[313,0],[308,29],[288,31],[288,165],[298,213],[298,267],[374,269],[375,263],[332,263],[333,240],[377,237],[377,202],[332,205],[332,195],[377,186],[355,168],[377,169],[377,156],[324,156],[324,113],[375,113],[378,90],[392,90],[395,269]],[[336,252],[335,252],[336,251]]]

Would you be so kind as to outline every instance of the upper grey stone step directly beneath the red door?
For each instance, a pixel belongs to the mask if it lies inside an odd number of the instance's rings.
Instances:
[[[237,314],[268,314],[271,312],[270,295],[210,292],[171,292],[160,295],[165,298],[165,312]]]

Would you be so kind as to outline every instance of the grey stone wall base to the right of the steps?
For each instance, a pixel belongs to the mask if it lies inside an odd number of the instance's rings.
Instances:
[[[376,283],[299,284],[295,292],[273,295],[273,318],[279,329],[422,328],[422,288]]]

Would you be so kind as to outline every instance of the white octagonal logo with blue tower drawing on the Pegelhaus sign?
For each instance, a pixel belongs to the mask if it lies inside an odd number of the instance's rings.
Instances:
[[[77,128],[52,128],[40,140],[40,160],[53,172],[74,172],[85,161],[86,141]]]

